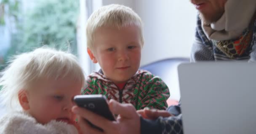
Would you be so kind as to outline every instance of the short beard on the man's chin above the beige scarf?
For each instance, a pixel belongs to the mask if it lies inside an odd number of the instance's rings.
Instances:
[[[216,23],[221,18],[223,13],[224,13],[224,10],[221,10],[214,14],[203,14],[203,13],[199,12],[199,17],[205,25],[209,25],[211,23]]]

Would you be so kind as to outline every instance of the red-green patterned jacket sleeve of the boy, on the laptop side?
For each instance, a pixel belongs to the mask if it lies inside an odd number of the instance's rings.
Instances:
[[[139,99],[140,105],[137,109],[148,107],[165,110],[168,106],[166,101],[170,97],[169,88],[158,76],[148,73],[144,77],[143,89],[139,93],[143,98]]]

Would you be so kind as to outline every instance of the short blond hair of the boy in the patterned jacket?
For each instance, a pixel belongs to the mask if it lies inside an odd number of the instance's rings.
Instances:
[[[94,11],[86,23],[87,47],[93,49],[93,34],[102,26],[121,28],[135,25],[140,29],[141,43],[144,44],[142,21],[137,13],[124,5],[111,4]]]

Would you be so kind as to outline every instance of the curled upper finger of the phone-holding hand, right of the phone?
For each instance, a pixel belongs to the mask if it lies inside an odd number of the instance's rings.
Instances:
[[[112,113],[119,114],[121,117],[127,119],[139,116],[132,104],[121,104],[115,100],[109,101],[109,109]]]

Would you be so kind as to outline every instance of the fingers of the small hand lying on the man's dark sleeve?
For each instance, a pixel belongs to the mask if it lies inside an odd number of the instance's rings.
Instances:
[[[145,109],[144,110],[145,115],[149,118],[149,119],[157,119],[158,117],[162,116],[162,117],[169,117],[169,116],[173,116],[172,114],[168,113],[165,110],[156,110],[156,109],[152,109],[152,110],[148,110]]]

